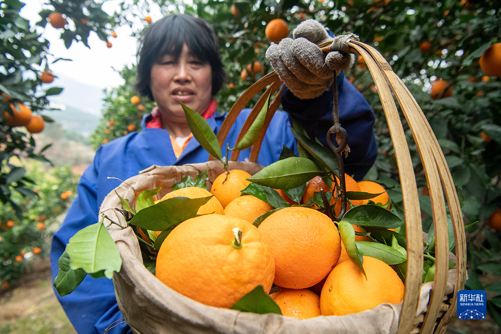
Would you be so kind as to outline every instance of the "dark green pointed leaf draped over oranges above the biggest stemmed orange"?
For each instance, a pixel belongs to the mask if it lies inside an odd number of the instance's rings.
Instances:
[[[212,196],[167,198],[137,212],[129,223],[151,231],[163,231],[181,221],[195,217],[200,206],[211,198]]]

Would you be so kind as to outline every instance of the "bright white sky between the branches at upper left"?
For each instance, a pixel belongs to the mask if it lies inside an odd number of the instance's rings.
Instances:
[[[21,16],[28,19],[33,25],[40,21],[38,13],[42,9],[42,0],[23,0],[26,6],[21,11]],[[111,0],[103,5],[103,10],[109,14],[113,13],[117,0]],[[52,8],[52,7],[44,7]],[[112,88],[123,84],[123,79],[117,71],[123,69],[125,65],[130,66],[136,63],[137,41],[130,36],[129,27],[119,27],[115,32],[117,38],[110,37],[111,48],[106,47],[106,42],[101,41],[95,33],[89,36],[88,44],[90,49],[83,43],[73,42],[70,49],[66,49],[63,40],[59,37],[61,29],[55,29],[50,24],[45,30],[38,31],[50,42],[50,52],[55,58],[67,58],[72,61],[58,61],[50,65],[55,76],[62,76],[78,83],[96,88]],[[55,59],[54,58],[54,59]]]

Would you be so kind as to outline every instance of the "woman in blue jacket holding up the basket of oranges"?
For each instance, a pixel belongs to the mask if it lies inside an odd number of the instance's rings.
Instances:
[[[108,177],[125,180],[153,164],[207,161],[208,153],[192,138],[179,102],[202,115],[216,133],[224,120],[213,99],[223,84],[224,72],[216,37],[207,23],[188,15],[167,16],[146,31],[138,56],[136,89],[154,100],[157,107],[143,118],[143,130],[117,138],[97,150],[93,164],[80,179],[77,198],[54,234],[53,279],[58,273],[57,261],[70,237],[97,222],[104,197],[120,184]],[[372,132],[374,114],[343,75],[338,76],[337,85],[341,122],[350,134],[352,150],[346,160],[347,172],[361,178],[377,154]],[[264,166],[279,160],[283,144],[297,152],[289,129],[290,116],[322,134],[319,138],[324,142],[332,123],[332,89],[307,100],[300,100],[286,90],[282,102],[289,113],[278,111],[270,124],[258,158],[258,163]],[[248,113],[242,111],[230,130],[226,139],[230,147]],[[242,151],[239,160],[247,159],[248,155],[249,150]],[[79,333],[103,333],[107,329],[109,334],[131,332],[118,309],[113,282],[109,279],[87,276],[71,294],[59,297],[56,292],[56,295]]]

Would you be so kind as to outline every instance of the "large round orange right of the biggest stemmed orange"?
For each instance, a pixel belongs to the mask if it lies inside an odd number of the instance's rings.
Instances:
[[[274,283],[303,289],[320,282],[341,253],[341,237],[324,213],[300,206],[272,213],[259,231],[275,258]]]

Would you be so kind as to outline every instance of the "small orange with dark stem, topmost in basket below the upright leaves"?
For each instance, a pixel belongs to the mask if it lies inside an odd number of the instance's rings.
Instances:
[[[210,192],[224,208],[229,202],[240,197],[240,191],[250,184],[250,181],[246,180],[250,176],[252,175],[241,169],[224,171],[215,178]]]

